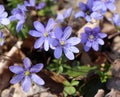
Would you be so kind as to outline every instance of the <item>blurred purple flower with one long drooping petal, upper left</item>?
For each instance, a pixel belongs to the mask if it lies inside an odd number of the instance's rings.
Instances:
[[[11,21],[16,21],[16,20],[18,21],[17,26],[16,26],[17,32],[20,32],[23,28],[23,24],[26,19],[25,11],[27,11],[25,6],[18,4],[17,8],[12,10],[12,16],[9,17]]]

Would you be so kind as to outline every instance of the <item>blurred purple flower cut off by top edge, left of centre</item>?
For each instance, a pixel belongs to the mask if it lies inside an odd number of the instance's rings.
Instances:
[[[43,7],[45,7],[45,2],[41,2],[36,6],[36,0],[30,0],[28,1],[24,1],[24,5],[28,6],[28,7],[35,7],[35,9],[42,9]]]

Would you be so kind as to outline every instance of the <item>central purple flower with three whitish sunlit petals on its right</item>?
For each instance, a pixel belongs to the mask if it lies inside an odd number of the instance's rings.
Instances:
[[[62,50],[65,56],[73,60],[74,54],[78,53],[78,48],[75,47],[78,43],[80,43],[80,39],[77,37],[70,37],[72,33],[72,28],[70,26],[66,27],[64,31],[60,27],[56,27],[54,30],[54,34],[56,40],[53,41],[53,45],[55,46],[54,56],[55,58],[60,58],[62,55]]]

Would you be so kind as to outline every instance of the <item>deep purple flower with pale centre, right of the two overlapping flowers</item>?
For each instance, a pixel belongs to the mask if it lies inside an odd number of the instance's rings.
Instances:
[[[107,34],[101,33],[100,27],[95,27],[91,29],[89,27],[85,28],[85,32],[81,34],[81,43],[85,44],[85,51],[89,51],[92,47],[95,51],[99,50],[99,44],[104,45],[102,38],[105,38]]]

